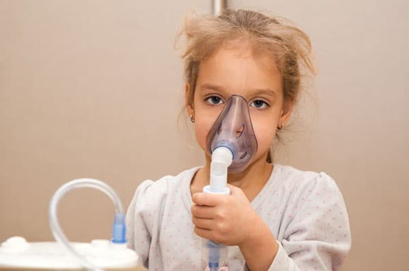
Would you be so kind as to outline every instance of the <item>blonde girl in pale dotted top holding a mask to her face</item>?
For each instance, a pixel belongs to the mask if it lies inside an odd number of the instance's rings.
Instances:
[[[314,73],[308,36],[247,10],[196,16],[184,31],[186,109],[205,164],[141,183],[126,216],[130,247],[150,270],[204,270],[203,238],[229,246],[233,271],[338,270],[351,246],[338,187],[326,173],[274,164],[270,154],[302,68]],[[205,194],[206,136],[232,95],[248,102],[257,150],[228,175],[231,195]]]

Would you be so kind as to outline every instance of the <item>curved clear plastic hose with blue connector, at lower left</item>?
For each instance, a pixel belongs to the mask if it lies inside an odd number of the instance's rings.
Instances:
[[[77,257],[79,264],[82,268],[86,270],[92,271],[103,271],[93,264],[89,263],[81,254],[79,254],[70,244],[67,237],[61,230],[60,224],[57,218],[57,206],[58,202],[62,198],[62,196],[67,193],[68,191],[75,189],[75,188],[95,188],[98,189],[105,194],[107,194],[111,200],[114,202],[115,205],[115,221],[114,221],[114,228],[113,228],[113,239],[112,242],[114,243],[125,243],[125,224],[124,224],[124,214],[123,214],[123,207],[118,197],[117,193],[106,183],[101,182],[99,180],[90,179],[90,178],[82,178],[76,179],[70,182],[67,182],[63,186],[61,186],[51,198],[49,209],[48,209],[48,219],[49,225],[52,232],[52,235],[57,240],[57,242],[61,243],[65,246],[68,251],[70,251],[75,257]]]

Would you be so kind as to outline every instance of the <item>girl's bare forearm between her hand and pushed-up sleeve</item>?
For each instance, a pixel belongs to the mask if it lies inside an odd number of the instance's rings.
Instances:
[[[267,225],[260,219],[253,235],[241,244],[240,250],[250,271],[268,270],[278,251],[278,243]]]

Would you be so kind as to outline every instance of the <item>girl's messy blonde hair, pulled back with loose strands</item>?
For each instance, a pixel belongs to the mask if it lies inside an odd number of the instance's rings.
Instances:
[[[308,35],[283,18],[251,10],[226,9],[217,17],[188,17],[182,34],[186,37],[182,58],[185,61],[185,80],[189,83],[187,103],[192,106],[201,61],[228,41],[245,40],[255,55],[269,53],[274,57],[283,77],[284,102],[296,102],[301,89],[302,69],[315,74]]]

